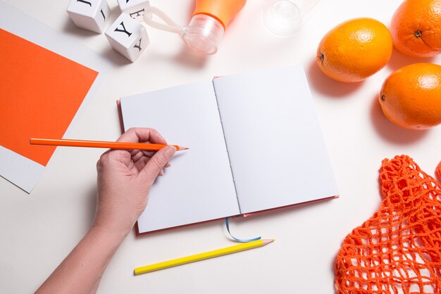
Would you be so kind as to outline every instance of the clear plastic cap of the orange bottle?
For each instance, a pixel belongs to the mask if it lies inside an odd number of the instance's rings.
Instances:
[[[223,25],[216,18],[197,14],[193,15],[190,25],[182,32],[181,37],[190,49],[211,55],[218,51],[224,31]]]

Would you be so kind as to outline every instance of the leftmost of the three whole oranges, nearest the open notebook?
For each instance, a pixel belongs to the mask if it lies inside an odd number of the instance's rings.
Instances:
[[[383,23],[356,18],[325,34],[318,45],[316,61],[332,79],[360,82],[386,65],[392,49],[392,37]]]

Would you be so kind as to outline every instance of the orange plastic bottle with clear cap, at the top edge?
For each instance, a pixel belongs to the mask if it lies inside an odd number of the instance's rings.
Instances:
[[[187,46],[204,54],[218,51],[225,27],[247,0],[196,0],[187,31],[182,34]]]

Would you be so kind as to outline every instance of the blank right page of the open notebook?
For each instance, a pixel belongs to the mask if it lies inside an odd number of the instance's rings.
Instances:
[[[213,84],[242,213],[338,195],[302,67]]]

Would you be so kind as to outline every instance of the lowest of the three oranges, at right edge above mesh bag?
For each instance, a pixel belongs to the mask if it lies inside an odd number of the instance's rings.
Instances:
[[[386,117],[400,127],[435,127],[441,123],[441,66],[415,63],[392,72],[378,101]]]

